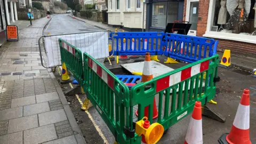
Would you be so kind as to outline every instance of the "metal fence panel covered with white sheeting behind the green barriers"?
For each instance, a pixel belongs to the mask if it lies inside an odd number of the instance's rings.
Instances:
[[[109,57],[108,30],[89,31],[86,33],[76,34],[49,35],[43,37],[47,56],[47,65],[43,65],[44,67],[55,67],[61,65],[59,38],[75,46],[76,49],[81,50],[82,53],[89,53],[95,59]],[[41,47],[39,47],[39,49],[40,48]]]

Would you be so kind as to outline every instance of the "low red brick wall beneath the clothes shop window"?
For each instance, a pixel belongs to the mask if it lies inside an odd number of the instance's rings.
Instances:
[[[231,50],[231,53],[246,54],[249,57],[256,57],[256,44],[218,38],[214,39],[219,40],[218,51],[224,51],[225,49],[228,49]]]

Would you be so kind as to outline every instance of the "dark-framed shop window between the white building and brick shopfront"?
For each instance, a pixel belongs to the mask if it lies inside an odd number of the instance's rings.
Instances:
[[[164,29],[167,23],[178,20],[178,7],[179,2],[153,3],[151,26]]]

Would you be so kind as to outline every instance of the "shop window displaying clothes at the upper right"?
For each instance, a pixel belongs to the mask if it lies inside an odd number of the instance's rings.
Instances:
[[[256,35],[255,0],[216,0],[210,31]]]

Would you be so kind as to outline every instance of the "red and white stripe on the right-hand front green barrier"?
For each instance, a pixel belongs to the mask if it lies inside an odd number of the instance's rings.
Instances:
[[[189,67],[187,69],[184,69],[182,71],[179,71],[178,73],[175,73],[173,75],[158,79],[156,81],[156,92],[162,91],[167,87],[182,82],[191,76],[202,73],[207,69],[209,69],[209,60],[199,63],[195,66]]]

